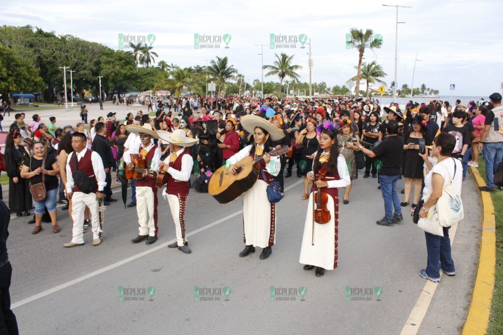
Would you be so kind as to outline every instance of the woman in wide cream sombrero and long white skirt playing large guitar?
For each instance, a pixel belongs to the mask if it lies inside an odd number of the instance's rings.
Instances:
[[[267,198],[267,186],[274,181],[280,171],[278,156],[267,154],[271,150],[272,141],[277,141],[285,134],[268,120],[258,115],[246,115],[240,120],[241,126],[254,135],[254,144],[247,145],[229,159],[232,173],[236,173],[236,163],[246,156],[253,158],[264,155],[260,165],[259,178],[254,186],[243,196],[243,229],[245,247],[239,257],[255,253],[255,247],[260,246],[261,260],[271,256],[271,247],[276,242],[276,204]]]

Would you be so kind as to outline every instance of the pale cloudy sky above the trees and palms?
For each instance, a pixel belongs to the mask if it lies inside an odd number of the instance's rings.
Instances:
[[[376,60],[389,83],[394,80],[396,9],[387,0],[358,2],[241,0],[131,1],[88,0],[81,5],[67,1],[0,0],[2,20],[10,26],[31,25],[56,35],[70,34],[118,49],[118,34],[154,34],[152,43],[159,60],[181,67],[206,65],[216,56],[227,56],[245,81],[261,79],[261,47],[264,64],[275,53],[294,55],[301,81],[308,81],[308,45],[270,49],[270,34],[311,40],[312,81],[328,87],[342,86],[354,75],[358,52],[346,49],[351,28],[372,29],[381,34],[380,49],[367,50],[363,61]],[[424,83],[440,95],[487,97],[501,92],[503,82],[502,0],[403,0],[411,8],[398,9],[397,83],[410,87],[417,59],[414,87]],[[228,48],[194,49],[194,34],[229,34]],[[307,40],[309,41],[309,40]],[[265,77],[265,81],[276,77]]]

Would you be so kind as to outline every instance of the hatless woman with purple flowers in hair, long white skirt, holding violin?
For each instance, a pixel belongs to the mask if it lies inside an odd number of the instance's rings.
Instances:
[[[325,128],[326,126],[326,128]],[[333,124],[325,122],[318,126],[320,134],[319,145],[314,153],[312,171],[307,178],[313,182],[309,205],[307,206],[304,235],[300,249],[301,264],[309,271],[316,267],[316,277],[321,277],[326,270],[337,268],[338,233],[339,233],[339,194],[338,187],[346,187],[351,183],[348,167],[344,156],[339,153],[337,145],[337,130]],[[314,196],[317,191],[327,195],[324,209],[329,211],[328,220],[318,222],[314,215],[317,204]],[[319,196],[321,197],[321,194]]]

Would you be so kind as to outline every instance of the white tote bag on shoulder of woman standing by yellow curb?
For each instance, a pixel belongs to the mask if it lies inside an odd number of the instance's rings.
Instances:
[[[447,166],[442,165],[446,171],[449,171]],[[454,176],[456,176],[456,161],[454,161]],[[461,200],[459,191],[453,184],[454,176],[450,178],[449,184],[445,185],[444,183],[442,196],[437,201],[437,206],[435,206],[439,223],[443,227],[450,227],[461,221],[464,217],[463,201]],[[451,177],[450,174],[449,177]]]

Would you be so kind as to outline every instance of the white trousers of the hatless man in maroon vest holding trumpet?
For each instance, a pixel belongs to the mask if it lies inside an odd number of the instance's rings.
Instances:
[[[74,192],[71,197],[71,218],[73,219],[72,239],[73,243],[84,242],[84,210],[89,207],[91,213],[91,230],[93,231],[93,239],[101,238],[103,230],[100,227],[98,219],[98,208],[96,206],[96,193],[90,194],[82,192]]]

